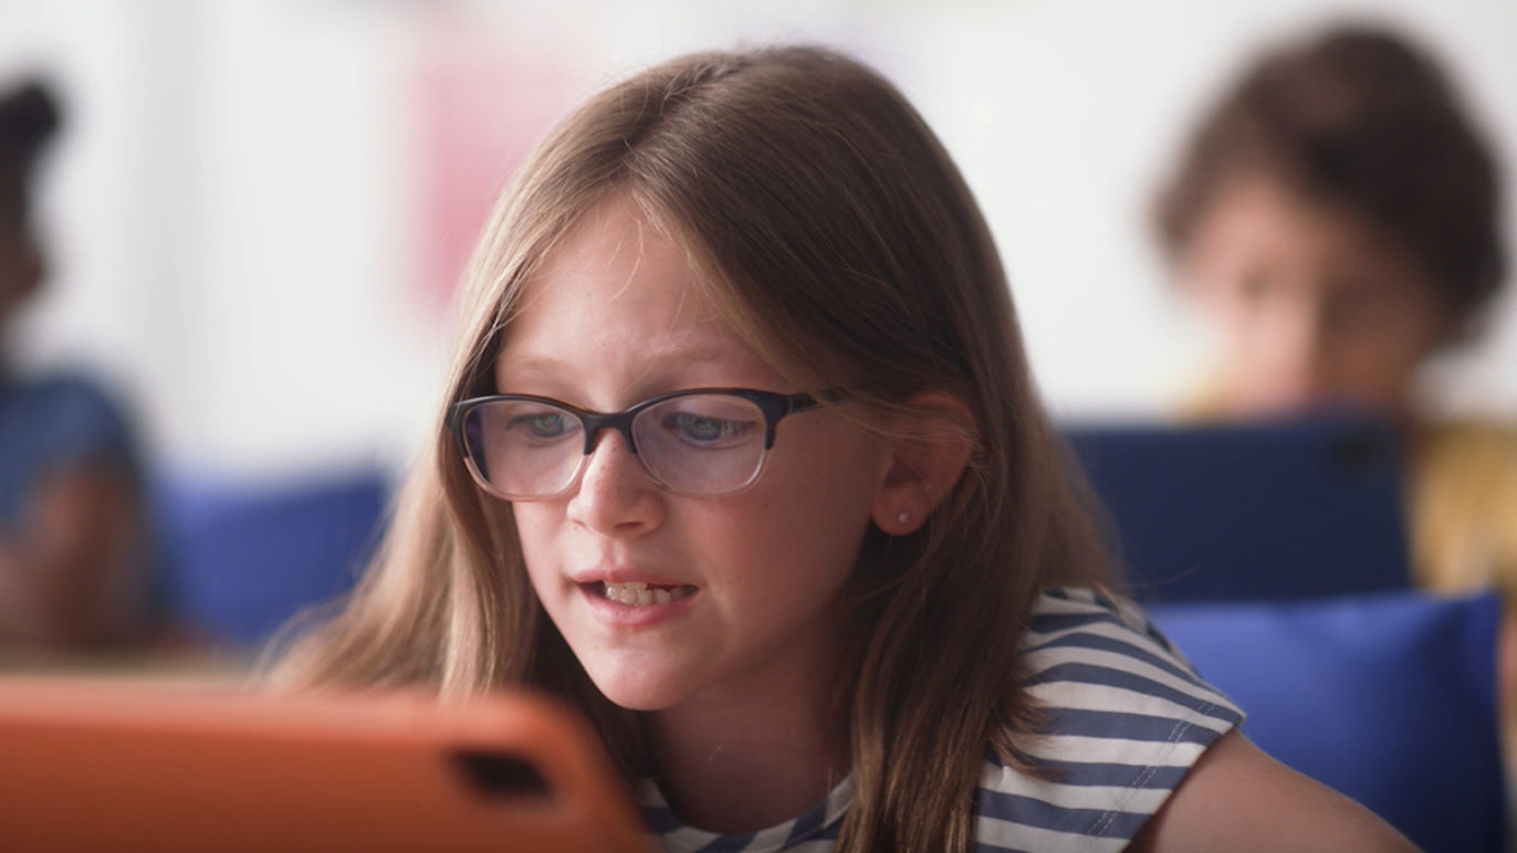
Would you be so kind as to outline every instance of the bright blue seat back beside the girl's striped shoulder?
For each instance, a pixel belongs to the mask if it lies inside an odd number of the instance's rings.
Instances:
[[[1150,608],[1255,744],[1429,853],[1502,850],[1494,595]]]

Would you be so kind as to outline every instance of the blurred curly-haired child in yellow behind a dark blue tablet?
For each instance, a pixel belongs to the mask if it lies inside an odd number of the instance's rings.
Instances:
[[[1154,218],[1180,289],[1223,332],[1195,414],[1385,415],[1409,455],[1415,580],[1494,585],[1511,614],[1517,430],[1440,418],[1417,394],[1418,371],[1468,341],[1503,286],[1499,186],[1438,64],[1356,26],[1258,58],[1195,129]],[[1503,633],[1509,718],[1517,632]]]

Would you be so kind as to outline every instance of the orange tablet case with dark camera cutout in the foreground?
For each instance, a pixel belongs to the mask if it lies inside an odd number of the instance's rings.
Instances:
[[[589,727],[526,694],[0,679],[0,850],[648,850]]]

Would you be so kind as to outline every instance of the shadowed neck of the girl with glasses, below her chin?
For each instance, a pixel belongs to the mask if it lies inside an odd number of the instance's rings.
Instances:
[[[754,832],[815,806],[842,779],[822,741],[816,685],[758,679],[742,695],[699,695],[648,714],[669,805],[708,832]]]

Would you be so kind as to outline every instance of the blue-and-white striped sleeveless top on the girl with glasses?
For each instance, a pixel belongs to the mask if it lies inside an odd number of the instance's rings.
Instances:
[[[974,815],[981,853],[1121,850],[1206,747],[1242,721],[1136,605],[1091,589],[1039,597],[1022,659],[1048,724],[1018,745],[1050,773],[1033,777],[986,751]],[[637,794],[655,841],[671,851],[830,851],[853,801],[845,779],[780,826],[718,835],[681,823],[652,780]]]

